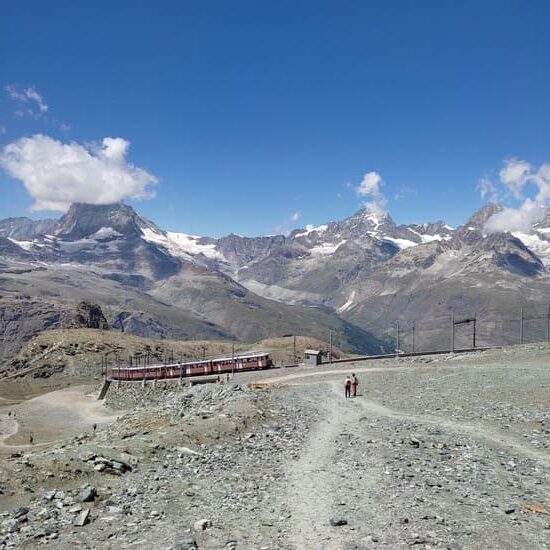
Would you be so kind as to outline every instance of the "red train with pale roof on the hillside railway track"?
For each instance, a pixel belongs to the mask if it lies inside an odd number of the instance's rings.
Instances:
[[[147,365],[145,367],[114,367],[113,380],[155,380],[164,378],[187,378],[208,374],[226,374],[249,370],[269,369],[273,361],[268,353],[258,352],[235,357],[173,363],[170,365]]]

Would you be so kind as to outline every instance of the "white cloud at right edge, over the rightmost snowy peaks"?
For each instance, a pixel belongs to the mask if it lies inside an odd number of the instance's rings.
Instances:
[[[506,193],[521,201],[521,204],[516,208],[504,208],[491,216],[484,229],[489,233],[500,231],[530,233],[533,224],[542,220],[546,208],[550,207],[550,164],[543,164],[536,169],[526,161],[507,160],[499,172],[499,178]],[[495,186],[492,183],[490,185],[496,195]],[[533,196],[526,196],[528,185],[535,188]]]

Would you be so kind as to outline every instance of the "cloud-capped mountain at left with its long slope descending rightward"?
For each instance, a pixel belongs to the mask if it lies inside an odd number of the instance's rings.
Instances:
[[[13,223],[4,227],[14,234]],[[38,301],[49,297],[63,310],[86,300],[101,305],[113,328],[141,336],[255,341],[293,333],[326,340],[332,330],[350,351],[382,349],[376,338],[326,309],[257,295],[212,267],[218,252],[208,240],[172,239],[129,206],[74,204],[49,229],[30,241],[0,231],[6,310],[27,294]],[[11,318],[1,322],[6,329],[0,337],[11,335],[12,351],[34,334]]]

